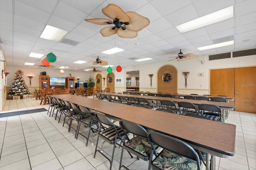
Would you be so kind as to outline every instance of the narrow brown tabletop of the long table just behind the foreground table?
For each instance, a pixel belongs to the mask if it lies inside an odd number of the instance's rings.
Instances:
[[[109,94],[111,96],[124,96],[124,97],[135,97],[135,98],[146,98],[148,100],[170,100],[174,103],[178,102],[190,102],[195,105],[199,104],[212,104],[221,107],[222,109],[234,109],[235,104],[234,103],[225,103],[225,102],[212,102],[212,101],[206,101],[206,100],[190,100],[190,99],[183,99],[183,98],[165,98],[165,97],[158,97],[158,96],[147,96],[147,95],[134,95],[134,94],[120,94],[120,93],[100,93],[100,94]]]

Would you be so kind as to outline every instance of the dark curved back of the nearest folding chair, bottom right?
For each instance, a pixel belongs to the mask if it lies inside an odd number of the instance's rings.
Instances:
[[[174,137],[164,135],[162,133],[158,133],[154,131],[148,133],[148,140],[153,149],[154,149],[154,144],[156,144],[163,149],[166,149],[176,154],[190,158],[196,161],[197,169],[201,170],[201,164],[200,164],[201,161],[197,152],[184,141],[181,141],[180,139],[176,139]],[[156,150],[154,149],[154,151]],[[153,151],[151,153],[153,153]],[[152,156],[150,159],[150,163],[152,163]]]

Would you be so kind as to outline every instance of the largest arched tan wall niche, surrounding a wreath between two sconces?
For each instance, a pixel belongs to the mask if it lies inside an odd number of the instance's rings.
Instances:
[[[172,77],[169,82],[165,82],[163,79],[163,76],[165,73],[169,73]],[[177,79],[178,79],[178,71],[175,66],[164,65],[160,67],[157,72],[157,92],[177,93],[177,87],[178,87]]]

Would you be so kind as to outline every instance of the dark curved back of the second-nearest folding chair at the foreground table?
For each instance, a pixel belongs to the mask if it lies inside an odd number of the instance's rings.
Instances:
[[[122,119],[120,120],[120,127],[122,127],[123,129],[125,129],[126,131],[129,131],[134,135],[138,135],[146,138],[148,137],[148,132],[146,131],[146,129],[141,125],[138,125],[137,123],[133,123],[133,122]]]

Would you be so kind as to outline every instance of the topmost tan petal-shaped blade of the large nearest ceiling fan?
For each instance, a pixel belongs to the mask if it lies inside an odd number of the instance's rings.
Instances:
[[[128,22],[131,20],[130,16],[128,16],[119,6],[116,4],[108,4],[105,8],[102,9],[103,14],[115,20],[118,18],[122,22]],[[112,21],[111,21],[112,22]]]

